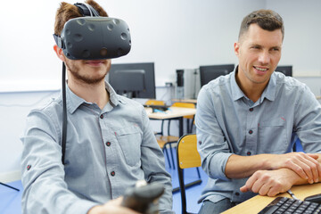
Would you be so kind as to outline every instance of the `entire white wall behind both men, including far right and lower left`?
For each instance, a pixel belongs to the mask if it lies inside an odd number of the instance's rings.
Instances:
[[[131,30],[131,52],[113,62],[155,62],[158,86],[174,82],[177,69],[236,63],[233,44],[240,22],[244,15],[260,8],[275,9],[284,17],[280,64],[293,64],[294,76],[321,76],[318,0],[97,1],[111,17],[127,21]],[[19,179],[19,137],[26,115],[53,93],[37,90],[60,88],[62,64],[53,53],[52,36],[59,2],[18,0],[20,6],[14,11],[0,13],[0,181]],[[11,1],[2,5],[12,8]],[[321,86],[318,81],[310,84]],[[169,100],[167,90],[159,87],[157,98]]]

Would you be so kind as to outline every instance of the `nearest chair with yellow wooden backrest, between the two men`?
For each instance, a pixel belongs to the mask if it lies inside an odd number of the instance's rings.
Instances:
[[[188,213],[186,210],[186,193],[185,188],[193,185],[200,185],[202,183],[202,178],[198,167],[201,167],[201,156],[197,152],[197,139],[196,135],[185,135],[182,136],[177,143],[177,171],[179,188],[182,197],[182,213]],[[198,179],[185,184],[184,182],[184,169],[196,168]]]

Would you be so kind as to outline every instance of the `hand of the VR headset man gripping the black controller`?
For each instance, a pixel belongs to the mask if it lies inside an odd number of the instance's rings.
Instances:
[[[134,210],[121,207],[120,203],[122,199],[122,197],[119,197],[118,199],[111,200],[103,205],[95,206],[90,209],[87,214],[139,214]]]

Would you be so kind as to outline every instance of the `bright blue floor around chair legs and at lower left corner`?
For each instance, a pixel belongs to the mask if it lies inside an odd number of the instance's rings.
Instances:
[[[173,187],[178,186],[178,175],[176,169],[168,169],[169,173],[172,176]],[[200,197],[202,188],[206,185],[207,176],[201,171],[202,184],[195,185],[186,190],[186,202],[187,210],[190,212],[197,213],[200,209],[200,204],[197,204],[197,200]],[[186,169],[185,170],[185,182],[189,183],[197,179],[196,169]],[[8,188],[4,185],[0,185],[0,214],[21,214],[21,194],[22,194],[22,185],[21,181],[15,181],[7,185],[12,185],[20,189],[21,191],[17,192],[11,188]],[[181,196],[180,193],[173,193],[173,210],[180,214],[181,211]]]

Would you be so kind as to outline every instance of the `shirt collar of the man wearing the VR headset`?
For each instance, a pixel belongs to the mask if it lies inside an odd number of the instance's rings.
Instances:
[[[115,107],[119,104],[119,102],[125,103],[125,101],[120,100],[119,95],[116,94],[115,90],[111,87],[111,85],[108,82],[105,82],[105,88],[110,94],[109,103],[111,103],[111,106]],[[61,95],[61,99],[62,99],[62,95]],[[93,103],[86,102],[86,100],[84,100],[83,98],[79,97],[78,95],[75,95],[70,90],[70,87],[67,85],[67,83],[66,83],[66,100],[67,100],[67,110],[70,112],[70,114],[75,112],[78,109],[78,107],[83,103],[86,103],[89,105],[93,104]]]

